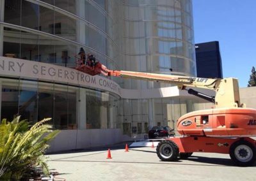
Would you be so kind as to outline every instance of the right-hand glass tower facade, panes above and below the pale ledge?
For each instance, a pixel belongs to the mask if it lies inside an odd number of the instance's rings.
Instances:
[[[196,75],[192,3],[186,0],[123,1],[124,69],[172,75]],[[170,71],[172,69],[172,72]],[[168,83],[124,80],[126,89],[157,89]],[[123,100],[124,131],[147,134],[156,125],[176,129],[180,115],[193,110],[184,98]],[[120,118],[119,118],[120,119]],[[140,131],[138,131],[140,133]]]

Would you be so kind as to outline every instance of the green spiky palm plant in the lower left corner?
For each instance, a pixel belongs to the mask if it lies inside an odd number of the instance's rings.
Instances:
[[[3,119],[0,124],[0,180],[19,180],[29,170],[40,166],[46,175],[49,169],[44,153],[48,143],[60,131],[51,130],[44,119],[29,126],[17,117],[12,122]]]

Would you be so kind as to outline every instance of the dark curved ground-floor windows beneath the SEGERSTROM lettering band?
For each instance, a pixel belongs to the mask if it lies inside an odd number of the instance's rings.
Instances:
[[[51,117],[56,129],[120,128],[118,99],[108,92],[37,80],[0,78],[0,82],[1,119],[21,115],[35,123]]]

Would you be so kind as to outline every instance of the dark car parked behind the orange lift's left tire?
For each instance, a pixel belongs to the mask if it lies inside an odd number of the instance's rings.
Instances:
[[[148,138],[169,138],[175,136],[174,129],[170,129],[169,126],[154,126],[148,131]]]

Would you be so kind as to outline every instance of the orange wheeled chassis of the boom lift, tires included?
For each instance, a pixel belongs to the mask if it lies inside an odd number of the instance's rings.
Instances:
[[[207,136],[184,136],[161,141],[156,148],[162,161],[186,159],[193,152],[229,154],[237,166],[252,166],[256,159],[255,140],[244,138],[214,138]]]

